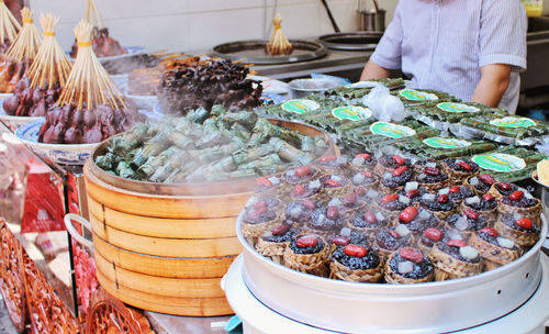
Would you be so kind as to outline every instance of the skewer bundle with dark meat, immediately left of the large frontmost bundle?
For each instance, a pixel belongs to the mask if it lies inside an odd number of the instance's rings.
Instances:
[[[55,38],[58,21],[59,18],[52,14],[41,15],[44,42],[26,75],[15,85],[13,94],[3,101],[8,115],[44,116],[57,102],[72,66]]]

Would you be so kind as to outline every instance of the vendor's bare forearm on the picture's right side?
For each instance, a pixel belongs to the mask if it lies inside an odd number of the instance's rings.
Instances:
[[[509,86],[511,65],[491,64],[481,67],[481,79],[471,101],[497,107]]]

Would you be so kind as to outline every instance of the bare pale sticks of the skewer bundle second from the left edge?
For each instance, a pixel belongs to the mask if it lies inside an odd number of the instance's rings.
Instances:
[[[26,7],[23,8],[21,10],[21,16],[23,18],[23,27],[5,55],[11,62],[32,62],[38,53],[38,47],[42,43],[42,35],[36,25],[33,23],[32,10]]]

